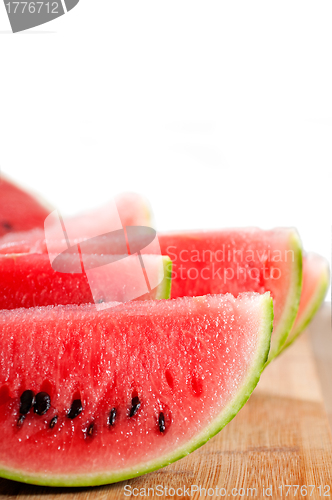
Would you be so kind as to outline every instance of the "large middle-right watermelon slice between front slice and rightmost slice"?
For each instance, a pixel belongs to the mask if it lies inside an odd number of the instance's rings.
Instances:
[[[302,250],[294,229],[256,228],[159,234],[173,263],[172,298],[207,293],[270,291],[274,327],[269,360],[295,320],[302,284]]]

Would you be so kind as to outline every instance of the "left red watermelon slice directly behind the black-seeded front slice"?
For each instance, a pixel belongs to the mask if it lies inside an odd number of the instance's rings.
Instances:
[[[0,256],[0,309],[99,303],[110,297],[118,302],[132,298],[148,300],[170,297],[172,265],[169,257],[144,256],[149,287],[137,256],[124,256],[121,261],[116,261],[118,265],[115,268],[109,267],[107,256],[90,256],[93,259],[90,266],[93,268],[92,276],[89,270],[88,274],[80,272],[81,269],[72,273],[76,256],[65,257],[67,273],[55,272],[47,254]],[[157,285],[153,286],[153,282]]]

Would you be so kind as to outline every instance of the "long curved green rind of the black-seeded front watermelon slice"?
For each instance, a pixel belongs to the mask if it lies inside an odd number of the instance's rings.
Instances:
[[[41,476],[29,474],[26,475],[19,471],[0,469],[0,476],[12,479],[15,481],[31,483],[44,486],[100,486],[103,484],[111,484],[127,479],[132,479],[137,476],[142,476],[149,472],[153,472],[162,467],[186,457],[189,453],[205,444],[209,439],[220,432],[241,410],[243,405],[249,399],[251,393],[255,389],[261,373],[265,367],[268,358],[271,334],[273,328],[273,301],[269,293],[261,296],[261,329],[258,334],[258,344],[254,360],[250,365],[250,369],[246,378],[242,382],[241,387],[237,391],[234,398],[227,404],[222,412],[206,427],[200,434],[195,436],[191,441],[187,442],[180,449],[177,449],[174,454],[170,453],[163,456],[160,460],[154,460],[142,464],[138,464],[134,468],[118,471],[105,472],[91,475],[69,475],[69,476]]]

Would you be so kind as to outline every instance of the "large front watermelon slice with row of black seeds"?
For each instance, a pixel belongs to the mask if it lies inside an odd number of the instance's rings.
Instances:
[[[0,475],[96,485],[184,457],[249,398],[272,318],[255,293],[0,311]]]

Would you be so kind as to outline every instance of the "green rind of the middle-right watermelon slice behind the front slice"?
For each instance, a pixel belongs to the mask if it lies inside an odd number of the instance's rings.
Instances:
[[[278,330],[272,334],[271,350],[267,364],[281,352],[296,320],[297,311],[300,305],[302,292],[302,243],[296,230],[291,231],[289,238],[289,250],[292,250],[294,255],[291,286],[288,291],[283,315],[278,324]]]

